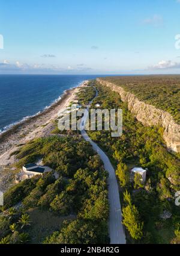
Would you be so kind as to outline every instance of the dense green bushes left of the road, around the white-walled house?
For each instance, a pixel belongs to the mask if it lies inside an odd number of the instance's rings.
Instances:
[[[78,136],[35,139],[19,148],[16,157],[17,167],[41,157],[53,171],[22,181],[5,193],[0,216],[1,243],[21,243],[23,239],[23,243],[32,243],[34,237],[41,243],[108,241],[107,172],[88,142]],[[21,207],[14,213],[10,207],[17,204]],[[45,234],[43,227],[34,223],[33,213],[40,215],[40,211],[51,214],[52,220],[61,218],[58,225],[50,222]],[[56,240],[52,238],[54,232]]]

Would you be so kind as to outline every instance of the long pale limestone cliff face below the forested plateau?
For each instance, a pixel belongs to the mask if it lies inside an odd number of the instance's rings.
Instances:
[[[97,78],[97,81],[101,85],[110,87],[113,91],[118,92],[122,101],[128,103],[128,109],[136,115],[137,120],[142,122],[143,125],[163,126],[163,137],[167,148],[172,149],[175,152],[180,152],[180,125],[175,123],[173,117],[169,113],[159,110],[143,101],[139,101],[135,95],[126,92],[120,86],[100,80],[100,78]]]

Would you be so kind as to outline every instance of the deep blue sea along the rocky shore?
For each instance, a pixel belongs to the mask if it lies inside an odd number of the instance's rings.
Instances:
[[[0,133],[97,75],[0,75]]]

